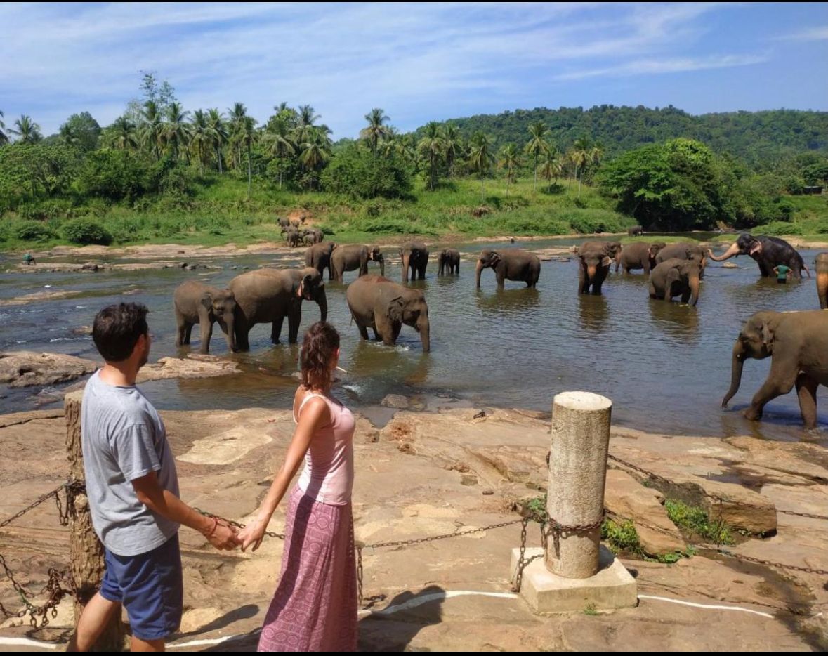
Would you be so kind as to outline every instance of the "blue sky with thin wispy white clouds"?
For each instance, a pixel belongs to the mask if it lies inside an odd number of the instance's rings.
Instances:
[[[506,109],[828,110],[828,3],[4,3],[0,110],[111,123],[141,70],[185,109],[312,105],[354,137]]]

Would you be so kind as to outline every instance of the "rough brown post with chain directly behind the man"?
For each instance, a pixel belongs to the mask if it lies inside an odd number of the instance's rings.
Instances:
[[[84,480],[84,454],[80,441],[80,405],[84,397],[83,390],[70,392],[64,397],[66,415],[66,453],[69,458],[69,478]],[[75,626],[89,599],[98,591],[103,579],[103,545],[92,528],[89,514],[89,500],[86,494],[75,496],[73,512],[70,514],[70,558],[72,581],[75,590]],[[118,613],[110,621],[103,634],[95,644],[95,651],[123,651],[124,636],[121,615]]]

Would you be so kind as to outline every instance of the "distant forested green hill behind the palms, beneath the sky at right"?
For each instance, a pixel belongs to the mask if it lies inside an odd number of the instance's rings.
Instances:
[[[793,109],[693,116],[672,106],[600,105],[586,110],[516,109],[456,118],[451,123],[467,138],[478,130],[489,134],[499,148],[509,142],[522,146],[529,138],[529,125],[537,121],[551,129],[548,139],[559,151],[566,151],[577,138],[589,137],[601,144],[604,157],[675,137],[697,139],[716,152],[732,153],[758,171],[772,169],[779,158],[806,151],[828,154],[828,112]],[[422,129],[417,130],[418,137]]]

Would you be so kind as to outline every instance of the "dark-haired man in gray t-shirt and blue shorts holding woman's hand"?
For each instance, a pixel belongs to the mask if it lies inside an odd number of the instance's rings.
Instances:
[[[105,364],[86,383],[80,429],[86,493],[106,572],[69,651],[91,649],[121,605],[129,616],[132,651],[163,651],[164,639],[181,622],[179,524],[200,531],[217,549],[233,549],[238,539],[233,529],[178,498],[164,423],[135,386],[150,354],[147,308],[103,308],[92,339]]]

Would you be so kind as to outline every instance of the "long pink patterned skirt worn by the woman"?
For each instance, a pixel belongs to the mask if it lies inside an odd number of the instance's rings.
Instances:
[[[350,502],[291,492],[282,574],[258,651],[356,651],[357,578]]]

